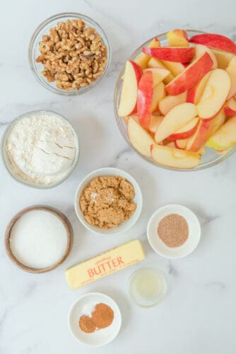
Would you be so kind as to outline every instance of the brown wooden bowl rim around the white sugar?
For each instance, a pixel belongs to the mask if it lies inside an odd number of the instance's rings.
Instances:
[[[59,220],[64,224],[64,227],[66,229],[66,234],[67,234],[67,245],[66,245],[66,251],[64,252],[64,255],[61,257],[57,263],[54,263],[50,265],[47,268],[31,268],[28,267],[27,265],[24,265],[23,263],[20,263],[18,259],[13,255],[11,251],[11,246],[10,246],[10,238],[11,238],[11,230],[23,215],[25,215],[27,212],[31,212],[33,210],[44,210],[46,212],[51,212],[53,215],[59,218]],[[5,248],[6,248],[6,253],[8,257],[11,259],[11,261],[18,266],[18,268],[25,270],[26,272],[29,273],[46,273],[49,272],[50,270],[53,270],[57,268],[61,263],[65,261],[67,256],[69,256],[69,253],[71,251],[71,246],[73,241],[73,227],[71,225],[71,222],[69,222],[69,219],[66,217],[66,215],[63,214],[63,212],[60,212],[54,207],[50,207],[48,205],[33,205],[30,207],[25,207],[24,209],[20,210],[16,215],[12,217],[10,222],[8,222],[8,225],[6,227],[6,232],[5,232]]]

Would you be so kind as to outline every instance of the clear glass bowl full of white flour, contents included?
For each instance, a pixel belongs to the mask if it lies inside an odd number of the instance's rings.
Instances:
[[[35,188],[59,185],[73,171],[79,154],[72,125],[49,110],[34,110],[13,120],[1,149],[11,176]]]

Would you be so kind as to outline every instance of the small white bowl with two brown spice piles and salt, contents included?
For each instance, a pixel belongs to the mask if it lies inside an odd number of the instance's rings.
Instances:
[[[122,315],[111,297],[90,292],[74,302],[68,321],[76,341],[98,347],[114,340],[122,325]]]

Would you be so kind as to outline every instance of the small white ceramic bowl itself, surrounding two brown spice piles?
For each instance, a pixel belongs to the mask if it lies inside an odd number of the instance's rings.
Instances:
[[[81,331],[78,321],[83,314],[87,314],[88,310],[93,312],[96,304],[107,304],[114,312],[112,324],[105,329],[100,329],[93,333],[85,333]],[[100,292],[90,292],[79,297],[72,305],[68,317],[69,329],[76,338],[76,341],[86,344],[87,346],[105,346],[110,343],[119,333],[122,326],[122,314],[114,300]]]

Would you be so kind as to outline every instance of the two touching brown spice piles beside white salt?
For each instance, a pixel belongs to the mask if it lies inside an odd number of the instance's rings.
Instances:
[[[96,304],[95,310],[91,316],[84,315],[79,319],[81,331],[85,333],[93,333],[99,329],[105,329],[112,324],[114,312],[107,304]]]

